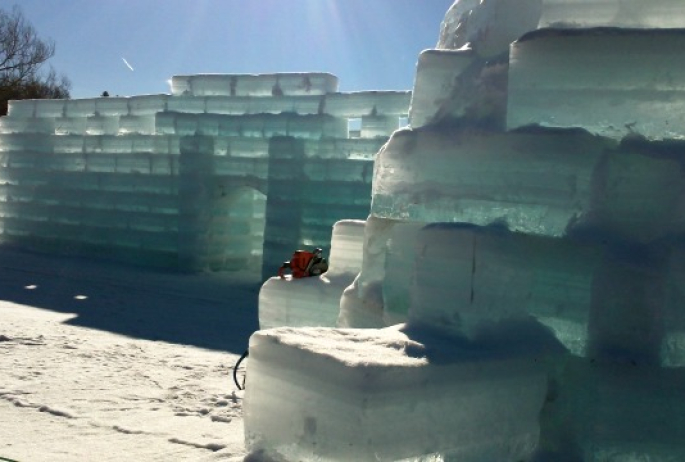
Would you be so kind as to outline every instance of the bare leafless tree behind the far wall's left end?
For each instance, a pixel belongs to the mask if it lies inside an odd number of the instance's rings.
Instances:
[[[40,72],[54,54],[54,42],[41,39],[18,6],[0,9],[0,115],[10,99],[69,97],[69,79],[52,68]]]

